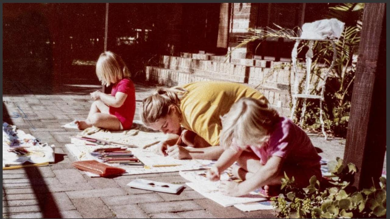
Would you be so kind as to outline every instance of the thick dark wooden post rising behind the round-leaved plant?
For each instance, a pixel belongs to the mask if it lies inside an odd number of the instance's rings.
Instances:
[[[386,4],[366,3],[344,163],[358,169],[352,185],[375,184],[386,152]]]

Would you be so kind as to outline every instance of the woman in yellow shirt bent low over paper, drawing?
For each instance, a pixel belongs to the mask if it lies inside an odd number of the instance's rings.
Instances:
[[[178,135],[159,145],[160,154],[176,159],[218,159],[223,152],[219,146],[220,117],[241,97],[268,103],[264,95],[246,85],[200,81],[182,87],[158,88],[142,101],[141,118],[154,130]],[[190,147],[180,146],[181,142]]]

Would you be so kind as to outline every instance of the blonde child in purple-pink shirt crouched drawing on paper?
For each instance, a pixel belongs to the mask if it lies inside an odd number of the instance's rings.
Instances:
[[[252,98],[241,98],[222,117],[220,143],[225,149],[207,172],[211,181],[235,161],[233,173],[243,182],[223,181],[220,191],[228,196],[242,196],[270,185],[280,185],[284,172],[299,187],[316,175],[321,179],[321,157],[307,134],[275,109]]]

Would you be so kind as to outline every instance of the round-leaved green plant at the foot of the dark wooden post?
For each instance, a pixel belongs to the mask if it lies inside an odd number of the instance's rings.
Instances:
[[[331,186],[320,186],[312,176],[306,188],[297,188],[293,178],[282,179],[284,194],[271,198],[283,218],[367,218],[386,217],[386,178],[381,177],[380,188],[371,187],[354,191],[349,185],[356,172],[352,163],[344,165],[342,159],[328,163],[332,173]],[[333,185],[332,185],[333,184]]]

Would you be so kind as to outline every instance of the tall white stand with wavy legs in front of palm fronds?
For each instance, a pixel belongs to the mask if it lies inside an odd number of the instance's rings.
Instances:
[[[325,92],[325,83],[326,83],[326,79],[328,78],[328,75],[329,75],[329,72],[332,71],[333,69],[333,66],[335,64],[335,61],[336,61],[336,58],[337,58],[337,50],[336,50],[336,44],[335,44],[335,41],[336,40],[333,40],[333,39],[301,39],[301,38],[293,38],[295,39],[295,44],[294,44],[294,48],[293,48],[293,51],[291,52],[291,59],[293,61],[293,69],[295,71],[295,79],[294,79],[294,94],[292,95],[293,96],[293,108],[291,109],[291,116],[290,118],[293,119],[294,117],[294,113],[295,113],[295,110],[296,110],[296,103],[297,103],[297,100],[298,98],[303,98],[303,107],[302,107],[302,114],[301,114],[301,120],[300,120],[300,126],[303,125],[303,120],[304,120],[304,115],[305,115],[305,111],[306,111],[306,100],[307,99],[319,99],[319,107],[320,107],[320,115],[319,115],[319,119],[321,121],[321,129],[322,129],[322,133],[324,134],[324,137],[325,137],[325,140],[327,139],[327,136],[326,136],[326,132],[325,132],[325,128],[324,128],[324,120],[323,120],[323,117],[322,117],[322,114],[323,114],[323,109],[322,109],[322,105],[323,105],[323,101],[324,101],[324,92]],[[296,62],[297,62],[297,56],[298,56],[298,45],[299,43],[301,42],[301,40],[307,40],[309,41],[309,49],[306,53],[306,81],[305,81],[305,93],[304,94],[298,94],[298,70],[297,70],[297,66],[296,66]],[[311,66],[312,66],[312,58],[313,58],[313,45],[314,45],[314,41],[329,41],[332,43],[332,46],[333,46],[333,60],[332,60],[332,64],[330,65],[329,69],[326,71],[326,74],[325,74],[325,77],[324,77],[324,84],[322,85],[322,88],[321,88],[321,95],[311,95],[309,94],[309,87],[310,87],[310,71],[311,71]]]

